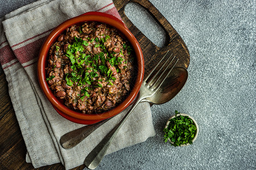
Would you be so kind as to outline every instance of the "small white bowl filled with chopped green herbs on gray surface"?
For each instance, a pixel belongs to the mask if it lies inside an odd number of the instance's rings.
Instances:
[[[196,121],[188,114],[175,111],[164,127],[164,141],[172,146],[187,146],[193,144],[199,132]]]

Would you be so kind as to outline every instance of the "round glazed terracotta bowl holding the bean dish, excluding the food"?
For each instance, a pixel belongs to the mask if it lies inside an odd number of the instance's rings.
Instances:
[[[136,57],[135,70],[137,70],[137,73],[135,74],[134,84],[133,87],[131,88],[129,96],[127,96],[127,98],[114,109],[96,114],[84,114],[79,111],[75,111],[74,109],[66,107],[63,100],[53,95],[53,92],[48,87],[48,83],[46,82],[46,66],[48,61],[48,51],[53,42],[55,42],[59,35],[61,35],[61,33],[64,32],[65,29],[70,27],[71,25],[89,21],[109,24],[112,27],[117,28],[118,31],[120,31],[121,34],[125,36],[125,39],[130,42],[131,46],[133,46]],[[61,23],[49,34],[47,39],[44,41],[39,53],[38,79],[40,86],[43,90],[43,93],[46,95],[47,99],[50,101],[50,103],[61,116],[79,124],[94,124],[98,121],[105,120],[106,118],[113,117],[116,114],[122,112],[131,104],[131,102],[137,96],[139,88],[141,88],[143,75],[144,60],[142,50],[141,47],[139,46],[138,41],[135,39],[134,35],[129,31],[129,29],[121,20],[115,18],[112,15],[104,14],[102,12],[87,12],[83,15],[68,19],[65,22]]]

